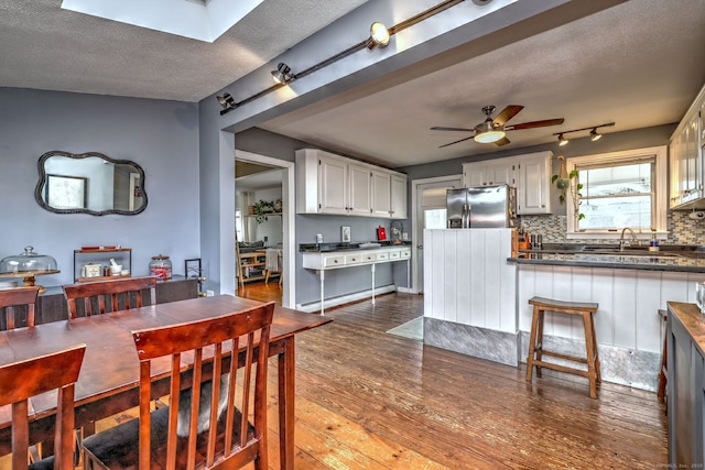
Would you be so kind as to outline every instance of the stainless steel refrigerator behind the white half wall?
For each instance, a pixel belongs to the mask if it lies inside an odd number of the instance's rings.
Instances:
[[[446,209],[449,229],[513,227],[517,189],[509,185],[448,189]]]

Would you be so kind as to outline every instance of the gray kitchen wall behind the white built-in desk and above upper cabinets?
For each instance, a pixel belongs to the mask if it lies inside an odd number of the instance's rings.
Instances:
[[[252,128],[240,132],[235,136],[235,146],[238,150],[271,156],[289,162],[295,160],[295,151],[299,149],[322,149],[306,142],[290,139],[280,134]],[[333,152],[339,154],[339,152]],[[348,155],[345,155],[348,156]],[[390,220],[368,217],[346,217],[346,216],[319,216],[319,215],[296,215],[295,243],[314,243],[317,233],[323,234],[326,242],[340,241],[340,227],[349,226],[352,241],[377,240],[376,229],[384,226],[389,233]],[[405,267],[399,271],[399,275],[392,275],[392,265],[403,263],[386,263],[377,266],[375,273],[375,284],[384,286],[394,281],[401,285],[406,285]],[[314,271],[304,270],[300,252],[296,253],[296,303],[308,304],[321,298],[321,286],[318,275]],[[394,273],[397,273],[394,269]],[[403,276],[401,275],[403,273]],[[369,266],[350,267],[339,270],[326,275],[325,296],[326,298],[338,297],[346,294],[354,294],[367,291],[371,287],[371,272]]]

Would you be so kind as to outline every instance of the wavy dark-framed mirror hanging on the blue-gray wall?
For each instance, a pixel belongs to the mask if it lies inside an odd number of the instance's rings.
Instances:
[[[34,198],[52,212],[131,216],[147,208],[144,171],[129,160],[55,150],[42,155],[37,165]]]

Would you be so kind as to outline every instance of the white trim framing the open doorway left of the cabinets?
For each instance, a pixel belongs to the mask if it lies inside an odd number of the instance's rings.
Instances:
[[[294,162],[237,149],[235,150],[235,160],[282,168],[282,275],[284,276],[282,282],[282,307],[294,308],[296,305],[296,270],[294,267],[296,260],[294,244],[296,240],[293,236],[296,233]],[[232,227],[232,230],[235,230],[235,227]]]

